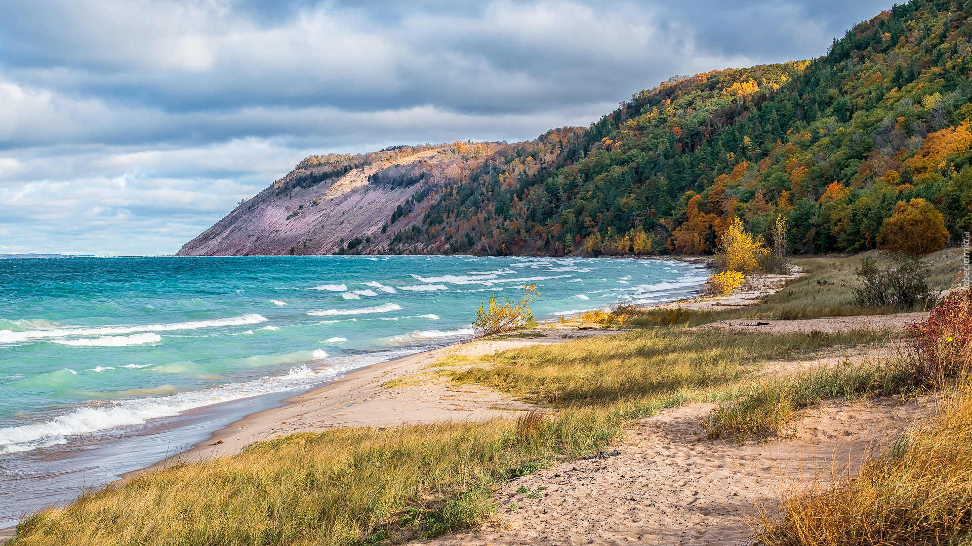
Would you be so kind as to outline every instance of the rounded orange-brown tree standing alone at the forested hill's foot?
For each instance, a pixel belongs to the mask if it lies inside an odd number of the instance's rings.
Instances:
[[[898,201],[894,214],[881,226],[878,245],[882,250],[907,256],[924,256],[945,247],[949,232],[945,218],[931,203],[915,197]]]

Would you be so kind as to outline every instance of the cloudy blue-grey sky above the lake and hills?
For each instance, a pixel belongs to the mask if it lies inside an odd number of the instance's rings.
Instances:
[[[529,140],[890,0],[0,2],[0,254],[174,254],[310,154]]]

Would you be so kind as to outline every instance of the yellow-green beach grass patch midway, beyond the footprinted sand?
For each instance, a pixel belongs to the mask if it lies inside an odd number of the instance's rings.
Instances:
[[[822,349],[884,343],[891,330],[757,333],[659,328],[596,342],[574,340],[505,351],[488,366],[450,373],[455,381],[555,406],[635,402],[657,397],[712,398],[735,392],[767,360],[807,358]],[[449,373],[449,372],[445,372]],[[741,383],[742,382],[742,383]]]

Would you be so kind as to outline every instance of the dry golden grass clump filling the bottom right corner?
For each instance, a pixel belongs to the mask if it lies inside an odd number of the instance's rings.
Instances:
[[[972,543],[972,392],[944,400],[927,427],[902,437],[835,487],[784,499],[766,517],[766,546],[913,546]]]

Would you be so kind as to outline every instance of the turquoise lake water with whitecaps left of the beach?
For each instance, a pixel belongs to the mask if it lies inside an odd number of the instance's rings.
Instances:
[[[542,319],[670,301],[704,277],[607,258],[0,260],[0,465],[468,338],[479,302],[524,284]]]

